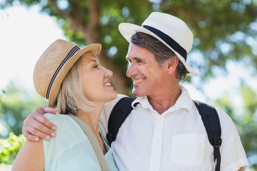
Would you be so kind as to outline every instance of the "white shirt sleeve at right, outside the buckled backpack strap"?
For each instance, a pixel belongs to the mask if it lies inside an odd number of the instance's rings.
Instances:
[[[243,148],[240,136],[235,128],[234,122],[230,116],[217,109],[220,125],[222,144],[220,147],[221,171],[238,171],[243,167],[248,167],[245,150]]]

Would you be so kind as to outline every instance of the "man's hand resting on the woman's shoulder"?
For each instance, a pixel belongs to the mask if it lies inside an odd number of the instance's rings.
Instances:
[[[57,109],[51,107],[40,107],[32,111],[23,121],[23,135],[30,141],[39,141],[39,138],[49,140],[55,136],[55,125],[49,122],[43,115],[45,113],[55,114]]]

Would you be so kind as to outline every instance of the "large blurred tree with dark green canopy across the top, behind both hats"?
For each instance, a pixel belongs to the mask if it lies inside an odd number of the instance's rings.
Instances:
[[[99,59],[114,71],[113,85],[118,93],[129,94],[131,84],[125,77],[128,43],[119,34],[118,24],[140,25],[153,11],[175,15],[192,29],[193,51],[202,56],[191,56],[188,61],[202,78],[215,75],[216,68],[225,71],[227,60],[257,64],[256,0],[5,0],[0,7],[17,2],[37,4],[54,16],[70,41],[101,43]]]

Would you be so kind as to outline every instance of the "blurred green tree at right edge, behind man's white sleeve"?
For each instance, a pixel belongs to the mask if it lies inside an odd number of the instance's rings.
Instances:
[[[257,93],[247,85],[241,85],[238,96],[243,105],[234,106],[228,95],[216,99],[216,107],[228,113],[241,137],[250,166],[257,171]],[[240,113],[239,113],[240,112]]]

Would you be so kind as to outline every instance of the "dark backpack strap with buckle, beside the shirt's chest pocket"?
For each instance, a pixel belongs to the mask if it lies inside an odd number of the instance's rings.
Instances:
[[[197,107],[199,114],[203,120],[205,129],[208,134],[208,139],[210,144],[213,146],[213,154],[214,154],[214,161],[217,160],[215,171],[220,171],[220,146],[222,143],[221,140],[221,127],[219,116],[214,107],[211,107],[205,103],[193,100],[195,106]]]

